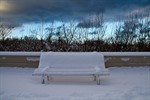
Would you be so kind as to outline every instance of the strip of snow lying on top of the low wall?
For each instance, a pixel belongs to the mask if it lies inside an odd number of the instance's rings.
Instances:
[[[0,52],[0,56],[40,56],[43,52]],[[150,56],[150,52],[100,52],[104,56]]]

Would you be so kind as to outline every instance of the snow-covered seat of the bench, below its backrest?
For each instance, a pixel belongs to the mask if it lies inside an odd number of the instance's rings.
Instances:
[[[33,75],[109,75],[108,69],[105,69],[103,71],[97,71],[96,69],[93,68],[48,68],[48,69],[43,69],[43,68],[37,68],[35,69]]]

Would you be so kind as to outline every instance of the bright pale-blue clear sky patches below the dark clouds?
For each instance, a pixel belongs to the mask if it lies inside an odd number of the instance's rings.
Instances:
[[[53,25],[53,28],[57,28],[57,27],[61,26],[63,23],[64,22],[56,21],[55,24]],[[120,22],[106,22],[105,23],[106,33],[105,33],[104,38],[108,38],[113,35],[113,32],[114,32],[115,28],[117,27],[118,23],[120,23]],[[44,26],[43,26],[43,31],[44,31],[43,35],[44,36],[48,35],[48,34],[46,34],[46,28],[50,27],[50,26],[51,26],[51,23],[44,23]],[[37,37],[40,39],[42,37],[42,36],[40,36],[40,35],[42,35],[42,34],[40,34],[42,31],[41,27],[42,27],[41,23],[23,24],[22,26],[17,27],[14,30],[12,30],[11,34],[8,35],[8,37],[9,38],[21,38],[21,37],[25,37],[25,36],[31,36],[31,37]],[[32,31],[37,31],[38,35],[34,34],[34,32],[32,32]],[[92,33],[94,30],[89,29],[89,31]]]

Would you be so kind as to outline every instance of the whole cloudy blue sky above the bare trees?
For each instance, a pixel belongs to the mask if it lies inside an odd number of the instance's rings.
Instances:
[[[71,20],[86,24],[97,13],[104,14],[109,36],[114,23],[136,12],[148,16],[150,0],[0,0],[0,23],[16,27],[10,37],[33,35],[30,30],[37,29],[41,21],[55,21],[56,26]]]

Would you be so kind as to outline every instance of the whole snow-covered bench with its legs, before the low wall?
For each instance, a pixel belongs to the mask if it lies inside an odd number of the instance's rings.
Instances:
[[[42,76],[42,83],[49,76],[93,75],[97,84],[100,76],[109,75],[105,68],[104,56],[97,52],[46,52],[40,56],[39,67],[33,75]]]

